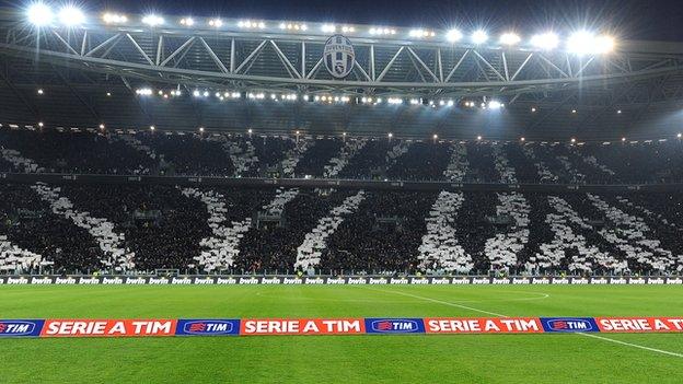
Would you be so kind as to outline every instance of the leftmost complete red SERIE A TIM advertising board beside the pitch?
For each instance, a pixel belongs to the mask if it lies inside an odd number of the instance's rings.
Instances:
[[[175,319],[46,319],[40,337],[174,336]]]

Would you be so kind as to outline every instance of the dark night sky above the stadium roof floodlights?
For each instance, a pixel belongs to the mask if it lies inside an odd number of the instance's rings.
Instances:
[[[25,4],[30,0],[0,0]],[[51,1],[47,1],[51,2]],[[61,3],[61,0],[54,0]],[[513,28],[523,35],[577,26],[623,39],[683,42],[682,0],[76,0],[91,12],[104,9],[166,15],[252,18],[359,23],[406,27]]]

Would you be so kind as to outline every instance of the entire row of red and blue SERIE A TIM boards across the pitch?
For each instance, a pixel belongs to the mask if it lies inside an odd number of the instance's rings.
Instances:
[[[683,333],[683,317],[0,319],[7,337]]]

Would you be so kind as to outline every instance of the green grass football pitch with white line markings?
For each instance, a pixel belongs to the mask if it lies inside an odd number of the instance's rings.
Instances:
[[[0,287],[0,318],[681,316],[676,286]],[[0,339],[0,383],[683,383],[683,334]]]

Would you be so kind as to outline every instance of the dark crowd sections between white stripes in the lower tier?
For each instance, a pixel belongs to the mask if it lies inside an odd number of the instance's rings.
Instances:
[[[248,228],[244,232],[224,232],[227,236],[240,237],[234,243],[239,254],[221,270],[292,272],[297,248],[306,234],[347,197],[358,193],[285,190],[278,194],[288,196],[287,199],[278,200],[274,189],[204,187],[201,190],[208,195],[184,194],[183,188],[161,185],[68,185],[61,186],[58,194],[72,202],[74,211],[89,212],[91,217],[112,222],[114,232],[125,236],[123,246],[126,252],[135,253],[136,270],[202,272],[205,269],[198,263],[198,255],[205,251],[202,244],[206,240],[220,233],[216,230],[221,225],[246,223]],[[493,269],[491,255],[486,253],[487,242],[490,243],[497,235],[510,236],[521,232],[510,230],[514,222],[497,212],[500,195],[484,191],[462,194],[462,206],[451,224],[453,237],[472,260],[470,272],[487,274]],[[3,197],[0,200],[0,236],[5,236],[19,248],[40,255],[47,261],[31,266],[32,269],[86,272],[103,268],[100,260],[106,256],[93,236],[74,225],[71,218],[51,210],[34,188],[5,184],[0,186],[0,195]],[[224,202],[220,223],[211,219],[207,201],[202,200],[202,196],[209,195],[212,203]],[[576,263],[577,259],[583,260],[581,249],[587,247],[624,263],[627,268],[618,272],[680,274],[683,270],[681,196],[630,194],[597,197],[565,194],[552,197],[523,194],[523,198],[530,208],[529,240],[517,252],[514,261],[505,266],[507,272],[584,272],[584,269],[576,269]],[[570,210],[568,214],[566,209],[563,213],[562,207],[554,202],[560,201],[558,198],[566,202]],[[322,256],[313,269],[323,274],[420,271],[418,248],[427,232],[426,219],[436,200],[435,193],[366,191],[358,209],[345,214],[324,244],[319,246]],[[273,201],[280,201],[280,209],[268,208]],[[565,214],[564,232],[557,232],[554,226],[557,219],[552,219],[553,214]],[[629,228],[638,230],[637,237],[628,235]],[[558,235],[569,236],[568,242],[574,244],[578,244],[576,238],[579,238],[580,244],[562,245],[559,259],[552,265],[535,265],[539,261],[534,260],[539,260],[544,245],[557,242]],[[629,248],[625,248],[625,244],[649,246],[655,253],[657,248],[665,249],[670,252],[673,264],[665,269],[653,268],[649,252],[634,257],[628,254]],[[659,253],[662,254],[661,251]],[[0,264],[2,259],[0,257]],[[586,261],[587,268],[592,268],[593,272],[614,272],[589,261]]]

